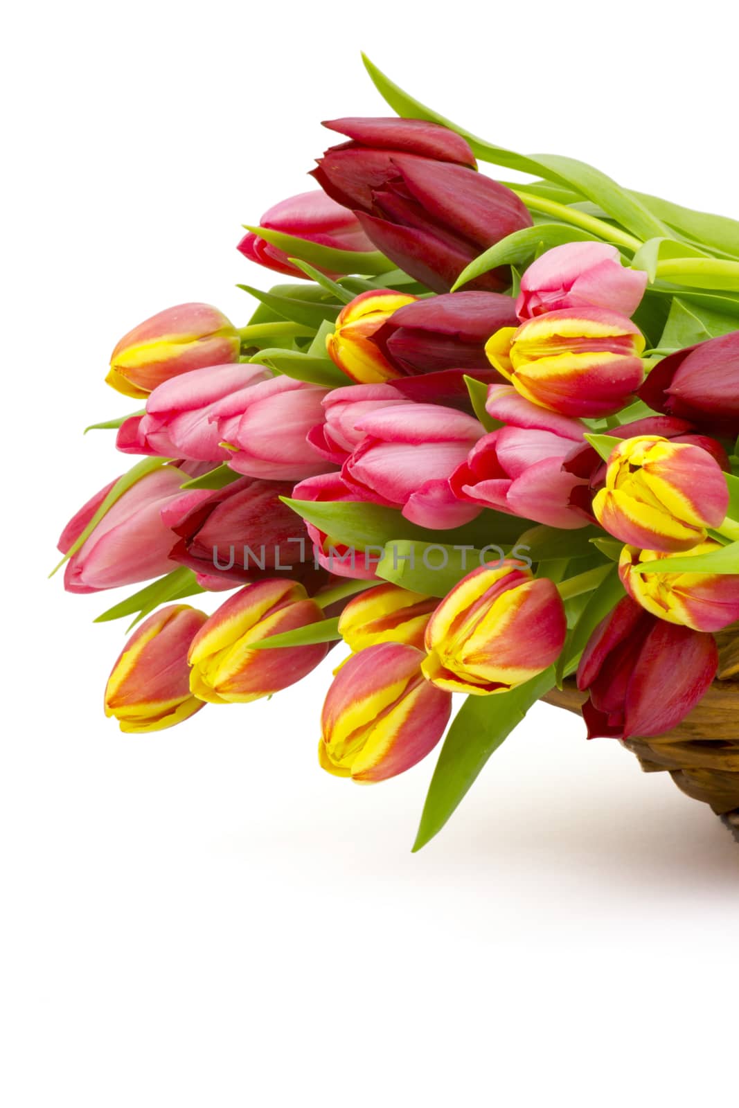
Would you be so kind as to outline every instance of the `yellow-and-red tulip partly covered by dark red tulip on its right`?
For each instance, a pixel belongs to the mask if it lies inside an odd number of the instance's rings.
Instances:
[[[379,384],[402,377],[373,339],[393,311],[417,299],[392,289],[360,293],[345,305],[337,317],[336,330],[326,338],[329,358],[359,384]]]

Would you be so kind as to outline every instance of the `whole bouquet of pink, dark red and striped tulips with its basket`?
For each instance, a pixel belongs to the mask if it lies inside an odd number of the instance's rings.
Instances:
[[[113,350],[143,407],[97,427],[137,460],[59,543],[70,592],[147,582],[100,616],[137,624],[105,712],[171,727],[343,642],[325,770],[381,781],[447,731],[417,845],[541,698],[736,820],[739,223],[367,68],[398,117],[325,124],[319,188],[247,228],[281,279],[245,326],[185,304]]]

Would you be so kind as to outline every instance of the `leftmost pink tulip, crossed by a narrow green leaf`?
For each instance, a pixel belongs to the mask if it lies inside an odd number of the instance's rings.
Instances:
[[[82,546],[66,563],[64,588],[69,593],[96,593],[103,588],[133,585],[174,568],[170,551],[176,535],[162,519],[174,501],[194,509],[207,493],[182,492],[187,474],[166,465],[145,474],[105,513]],[[65,554],[92,520],[115,482],[101,489],[80,509],[59,540]]]

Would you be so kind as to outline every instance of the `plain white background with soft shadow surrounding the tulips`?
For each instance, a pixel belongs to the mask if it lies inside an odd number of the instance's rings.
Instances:
[[[124,737],[101,706],[122,627],[90,623],[113,598],[45,574],[122,469],[109,434],[80,433],[135,407],[103,383],[110,350],[184,300],[245,322],[235,283],[271,278],[236,253],[239,225],[306,187],[321,119],[387,114],[360,48],[492,141],[739,216],[736,10],[126,0],[10,18],[3,1104],[731,1102],[739,847],[707,808],[537,707],[411,855],[433,756],[371,789],[319,771],[328,666],[269,704]]]

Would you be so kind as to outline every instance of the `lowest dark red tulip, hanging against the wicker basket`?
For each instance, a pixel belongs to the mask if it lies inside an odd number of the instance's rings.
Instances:
[[[718,668],[712,635],[645,612],[629,596],[595,628],[577,668],[588,739],[663,735],[695,708]]]

